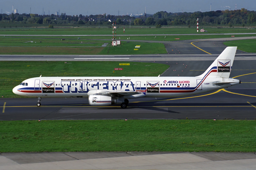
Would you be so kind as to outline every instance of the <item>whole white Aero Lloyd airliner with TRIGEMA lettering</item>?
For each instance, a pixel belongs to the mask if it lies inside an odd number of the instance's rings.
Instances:
[[[227,47],[210,67],[197,77],[35,77],[13,88],[20,96],[89,97],[89,104],[116,104],[126,108],[128,99],[140,97],[180,97],[201,94],[237,85],[229,78],[237,47]]]

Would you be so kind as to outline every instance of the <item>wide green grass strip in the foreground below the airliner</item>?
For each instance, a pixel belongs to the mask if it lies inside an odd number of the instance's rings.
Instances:
[[[255,120],[0,121],[0,152],[255,152]]]

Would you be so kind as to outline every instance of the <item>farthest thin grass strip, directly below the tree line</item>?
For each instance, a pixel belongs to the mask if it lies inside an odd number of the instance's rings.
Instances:
[[[200,27],[201,28],[201,27]],[[204,27],[203,27],[204,28]],[[113,28],[1,28],[0,34],[22,34],[22,35],[96,35],[112,34]],[[145,28],[145,27],[123,27],[116,29],[116,34],[220,34],[220,33],[256,33],[256,29],[247,28],[205,28],[208,32],[198,32],[196,27],[173,27],[173,28]]]

